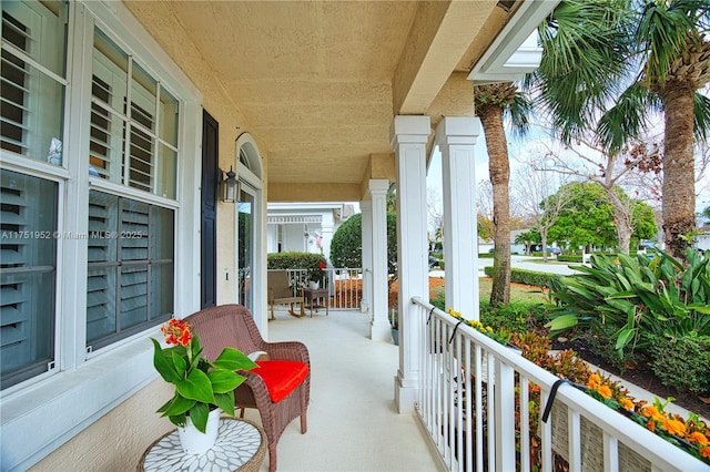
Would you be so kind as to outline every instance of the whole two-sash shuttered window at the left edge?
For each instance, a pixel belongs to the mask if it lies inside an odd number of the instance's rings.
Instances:
[[[59,183],[68,8],[2,2],[0,152],[28,168],[0,170],[0,384],[54,368]],[[0,160],[1,161],[1,160]]]

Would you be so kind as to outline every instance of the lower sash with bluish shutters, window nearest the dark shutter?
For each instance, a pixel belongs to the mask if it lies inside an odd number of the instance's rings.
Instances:
[[[172,209],[89,193],[87,343],[93,349],[173,312]]]

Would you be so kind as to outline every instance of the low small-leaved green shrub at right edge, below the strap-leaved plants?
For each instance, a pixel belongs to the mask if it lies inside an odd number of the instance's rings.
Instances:
[[[680,391],[710,393],[710,337],[651,336],[648,350],[661,383]]]

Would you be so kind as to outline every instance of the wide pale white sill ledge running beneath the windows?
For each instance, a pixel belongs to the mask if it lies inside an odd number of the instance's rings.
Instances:
[[[31,466],[141,390],[158,377],[152,359],[139,337],[0,399],[0,470]]]

